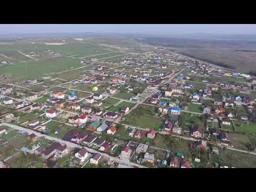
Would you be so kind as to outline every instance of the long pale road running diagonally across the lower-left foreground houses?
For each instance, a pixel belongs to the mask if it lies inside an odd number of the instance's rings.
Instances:
[[[51,140],[51,141],[57,141],[57,142],[59,142],[59,143],[62,143],[63,145],[67,145],[67,146],[72,147],[72,148],[81,149],[81,148],[84,147],[89,153],[99,153],[99,154],[101,154],[102,156],[104,156],[104,157],[106,157],[106,158],[112,158],[112,159],[114,159],[117,163],[123,163],[123,164],[126,164],[126,165],[127,165],[127,163],[126,163],[123,159],[119,159],[119,158],[110,156],[110,155],[108,155],[108,154],[101,153],[100,151],[95,150],[95,149],[91,149],[91,148],[89,148],[89,147],[85,147],[85,146],[82,146],[82,145],[78,145],[78,144],[76,144],[76,143],[72,143],[72,142],[69,142],[69,141],[63,141],[63,140],[61,140],[61,139],[54,138],[54,137],[51,137],[51,136],[49,136],[49,135],[45,135],[45,134],[39,133],[39,132],[37,132],[37,131],[33,131],[33,130],[30,130],[30,129],[21,127],[21,126],[12,125],[12,124],[9,124],[9,123],[3,123],[3,125],[12,127],[13,129],[17,129],[17,130],[21,130],[21,131],[26,131],[26,132],[28,132],[28,133],[34,133],[34,134],[37,135],[38,137],[44,137],[44,138],[46,138],[46,139],[48,139],[48,140]],[[129,164],[130,164],[130,166],[137,166],[137,167],[140,167],[140,168],[147,168],[147,167],[142,166],[142,165],[139,165],[139,164],[137,164],[137,163],[132,163],[132,162],[130,162]]]

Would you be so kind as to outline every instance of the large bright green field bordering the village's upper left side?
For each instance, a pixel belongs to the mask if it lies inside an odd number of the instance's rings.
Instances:
[[[0,67],[1,73],[11,74],[12,81],[22,81],[29,78],[41,77],[46,74],[56,73],[77,67],[82,67],[79,59],[54,58],[39,61],[27,61],[19,65],[8,65]]]

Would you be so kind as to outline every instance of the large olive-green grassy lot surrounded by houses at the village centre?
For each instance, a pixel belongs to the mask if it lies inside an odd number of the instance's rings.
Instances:
[[[124,116],[123,123],[159,131],[163,126],[163,119],[154,117],[155,107],[138,106],[129,115]]]

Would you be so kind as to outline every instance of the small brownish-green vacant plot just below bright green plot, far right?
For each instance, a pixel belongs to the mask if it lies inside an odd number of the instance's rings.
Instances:
[[[243,150],[248,150],[248,147],[252,145],[251,140],[246,134],[230,132],[232,144]]]

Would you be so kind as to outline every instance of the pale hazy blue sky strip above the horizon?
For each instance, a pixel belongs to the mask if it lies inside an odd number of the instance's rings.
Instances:
[[[256,25],[213,25],[213,24],[0,24],[0,34],[26,33],[138,33],[138,34],[256,34]]]

